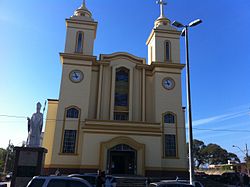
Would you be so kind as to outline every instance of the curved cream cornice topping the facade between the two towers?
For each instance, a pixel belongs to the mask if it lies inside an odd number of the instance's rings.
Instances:
[[[146,64],[146,59],[141,58],[135,55],[132,55],[130,53],[126,52],[116,52],[112,54],[101,54],[100,55],[100,61],[105,61],[105,62],[112,62],[112,61],[118,61],[119,59],[121,60],[127,60],[130,62],[133,62],[135,64]]]

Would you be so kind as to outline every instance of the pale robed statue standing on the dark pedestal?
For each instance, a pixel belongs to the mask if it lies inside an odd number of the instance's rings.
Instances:
[[[36,113],[34,113],[28,120],[28,138],[27,138],[27,147],[40,147],[40,137],[43,128],[43,114],[40,112],[41,103],[36,104]]]

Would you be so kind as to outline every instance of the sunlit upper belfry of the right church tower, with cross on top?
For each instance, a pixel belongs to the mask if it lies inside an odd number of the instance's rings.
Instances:
[[[171,26],[170,20],[164,15],[163,0],[159,0],[160,16],[146,42],[148,46],[148,63],[180,63],[180,32]]]

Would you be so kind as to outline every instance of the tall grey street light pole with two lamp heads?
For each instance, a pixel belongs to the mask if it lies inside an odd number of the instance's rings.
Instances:
[[[183,25],[180,22],[174,21],[172,25],[178,28],[183,28],[182,36],[185,35],[186,48],[186,89],[187,89],[187,112],[188,112],[188,150],[189,150],[189,180],[190,184],[194,181],[194,158],[193,158],[193,128],[192,128],[192,107],[191,107],[191,88],[190,88],[190,70],[189,70],[189,46],[188,46],[188,28],[200,24],[202,21],[197,19],[188,25]]]

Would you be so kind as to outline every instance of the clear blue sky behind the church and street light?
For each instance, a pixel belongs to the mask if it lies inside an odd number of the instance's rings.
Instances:
[[[145,42],[159,6],[155,0],[87,0],[98,21],[94,54],[125,51],[147,58]],[[81,0],[0,0],[0,147],[27,137],[37,101],[58,98],[65,18]],[[250,146],[250,1],[169,0],[171,20],[203,23],[189,32],[194,138],[243,154]],[[184,39],[181,60],[185,62]],[[183,71],[183,105],[185,71]],[[4,117],[4,115],[16,117]]]

